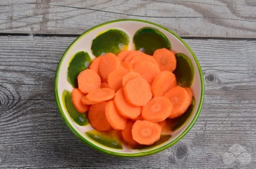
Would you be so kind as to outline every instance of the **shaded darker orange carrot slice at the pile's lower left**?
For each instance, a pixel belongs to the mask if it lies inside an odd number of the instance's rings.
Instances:
[[[106,106],[107,102],[102,102],[91,105],[89,109],[88,119],[90,124],[98,131],[109,131],[112,128],[107,121]]]

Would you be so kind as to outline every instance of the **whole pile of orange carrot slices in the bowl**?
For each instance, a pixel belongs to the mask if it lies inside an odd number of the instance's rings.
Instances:
[[[192,103],[189,88],[177,86],[174,52],[157,49],[153,56],[123,50],[95,58],[77,77],[72,102],[88,113],[98,131],[120,130],[129,145],[158,141],[166,118],[177,118]]]

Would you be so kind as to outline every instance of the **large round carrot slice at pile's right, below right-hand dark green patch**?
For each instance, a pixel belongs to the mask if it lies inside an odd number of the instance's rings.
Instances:
[[[183,87],[176,86],[167,91],[164,96],[169,98],[173,105],[171,115],[169,116],[171,119],[183,115],[189,107],[190,97]]]

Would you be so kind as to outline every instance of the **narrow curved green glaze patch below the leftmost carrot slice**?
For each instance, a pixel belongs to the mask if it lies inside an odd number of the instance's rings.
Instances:
[[[71,119],[74,122],[76,122],[76,124],[78,124],[80,126],[85,126],[85,125],[89,124],[89,121],[86,117],[86,113],[83,113],[83,114],[79,113],[73,106],[70,91],[63,92],[62,100],[63,100],[64,107],[66,108],[66,111],[68,112]]]

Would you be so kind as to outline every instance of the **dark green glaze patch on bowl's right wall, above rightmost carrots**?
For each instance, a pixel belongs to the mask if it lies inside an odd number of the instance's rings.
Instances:
[[[175,54],[175,57],[177,66],[173,73],[175,74],[177,85],[191,87],[194,79],[194,68],[191,60],[187,55],[182,53]]]

